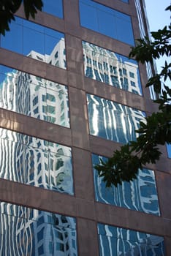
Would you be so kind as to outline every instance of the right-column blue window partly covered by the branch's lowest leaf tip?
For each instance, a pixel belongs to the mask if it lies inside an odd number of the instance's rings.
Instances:
[[[103,159],[104,162],[107,160],[105,157],[93,154],[93,165],[99,164],[99,159]],[[123,182],[118,187],[112,186],[110,188],[105,187],[102,177],[99,177],[97,171],[94,170],[94,187],[96,201],[100,203],[143,211],[147,214],[160,215],[153,170],[139,170],[137,179],[131,182]]]

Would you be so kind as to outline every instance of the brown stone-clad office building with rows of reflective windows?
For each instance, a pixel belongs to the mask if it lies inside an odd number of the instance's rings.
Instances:
[[[147,33],[143,0],[17,12],[0,41],[0,255],[170,255],[167,148],[117,188],[94,170],[156,110],[153,67],[128,58]]]

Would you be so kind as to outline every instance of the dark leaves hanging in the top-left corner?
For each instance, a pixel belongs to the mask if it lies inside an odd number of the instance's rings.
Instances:
[[[23,2],[26,19],[35,18],[37,10],[42,10],[42,0],[0,0],[0,34],[5,35],[9,31],[9,23],[15,20],[15,12]]]

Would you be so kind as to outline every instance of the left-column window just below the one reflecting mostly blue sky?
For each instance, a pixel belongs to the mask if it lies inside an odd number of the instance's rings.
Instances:
[[[66,86],[2,65],[0,108],[69,127]]]

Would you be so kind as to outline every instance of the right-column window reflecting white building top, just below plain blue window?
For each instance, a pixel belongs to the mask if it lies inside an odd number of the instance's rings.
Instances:
[[[89,42],[83,42],[83,59],[86,77],[142,95],[137,61]]]

